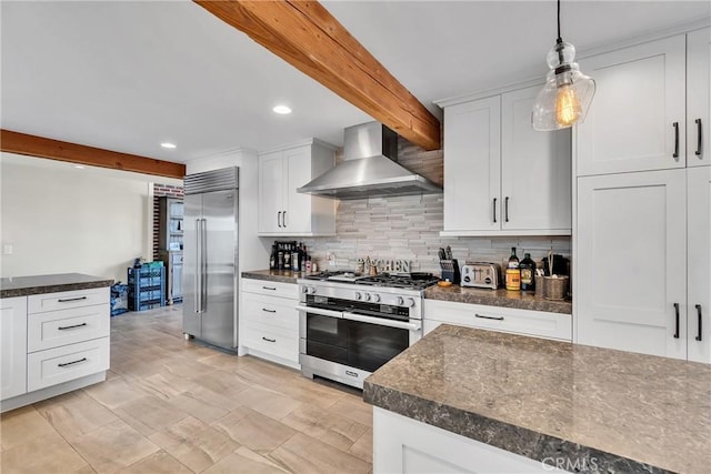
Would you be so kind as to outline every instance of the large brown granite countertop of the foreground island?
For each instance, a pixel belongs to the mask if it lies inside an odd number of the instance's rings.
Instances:
[[[363,397],[537,461],[587,460],[581,472],[711,465],[707,364],[443,324],[368,377]]]

